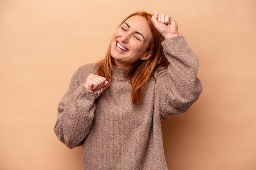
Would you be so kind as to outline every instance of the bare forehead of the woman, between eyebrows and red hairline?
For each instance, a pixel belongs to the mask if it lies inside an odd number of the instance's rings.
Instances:
[[[134,15],[128,18],[125,22],[129,24],[130,29],[134,29],[135,31],[139,31],[140,33],[145,35],[151,35],[151,31],[146,21],[146,18],[140,15]]]

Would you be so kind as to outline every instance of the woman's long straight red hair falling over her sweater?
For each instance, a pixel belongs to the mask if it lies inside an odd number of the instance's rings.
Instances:
[[[161,42],[164,41],[164,37],[157,31],[157,29],[155,29],[155,26],[152,24],[152,14],[145,11],[132,13],[126,19],[124,19],[121,24],[123,24],[128,18],[134,15],[140,15],[146,19],[150,31],[153,35],[153,39],[150,41],[147,47],[147,51],[151,51],[151,57],[148,60],[138,60],[137,62],[134,62],[124,71],[124,75],[128,78],[131,84],[131,100],[133,104],[141,102],[146,82],[152,76],[154,76],[154,73],[160,69],[167,68],[169,65],[168,60],[164,56],[161,45]],[[110,55],[109,44],[106,57],[99,61],[97,66],[98,75],[105,77],[110,82],[110,84],[112,81],[112,73],[114,71],[113,65],[115,65],[115,61]]]

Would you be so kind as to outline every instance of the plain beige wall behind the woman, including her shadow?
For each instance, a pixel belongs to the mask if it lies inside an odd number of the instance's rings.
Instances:
[[[169,169],[256,170],[255,0],[0,0],[0,170],[82,169],[53,132],[57,104],[141,9],[172,15],[200,60],[200,99],[162,124]]]

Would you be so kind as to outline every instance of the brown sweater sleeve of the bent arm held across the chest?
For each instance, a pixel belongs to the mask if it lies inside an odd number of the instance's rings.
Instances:
[[[69,89],[58,104],[58,117],[54,132],[68,148],[83,144],[94,118],[96,96],[83,86],[84,73],[79,68],[73,75]],[[84,81],[84,80],[83,80]]]

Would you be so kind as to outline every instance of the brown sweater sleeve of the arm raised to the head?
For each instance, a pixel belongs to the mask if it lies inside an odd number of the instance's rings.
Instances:
[[[156,96],[163,119],[186,112],[202,92],[197,77],[198,58],[182,35],[162,42],[164,55],[170,62],[156,78]]]

